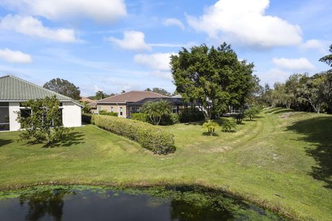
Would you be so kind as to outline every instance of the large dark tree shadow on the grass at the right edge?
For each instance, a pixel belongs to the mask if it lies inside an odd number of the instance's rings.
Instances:
[[[332,117],[305,119],[288,126],[287,130],[304,135],[300,139],[308,142],[304,147],[306,154],[317,162],[309,174],[332,189]]]

